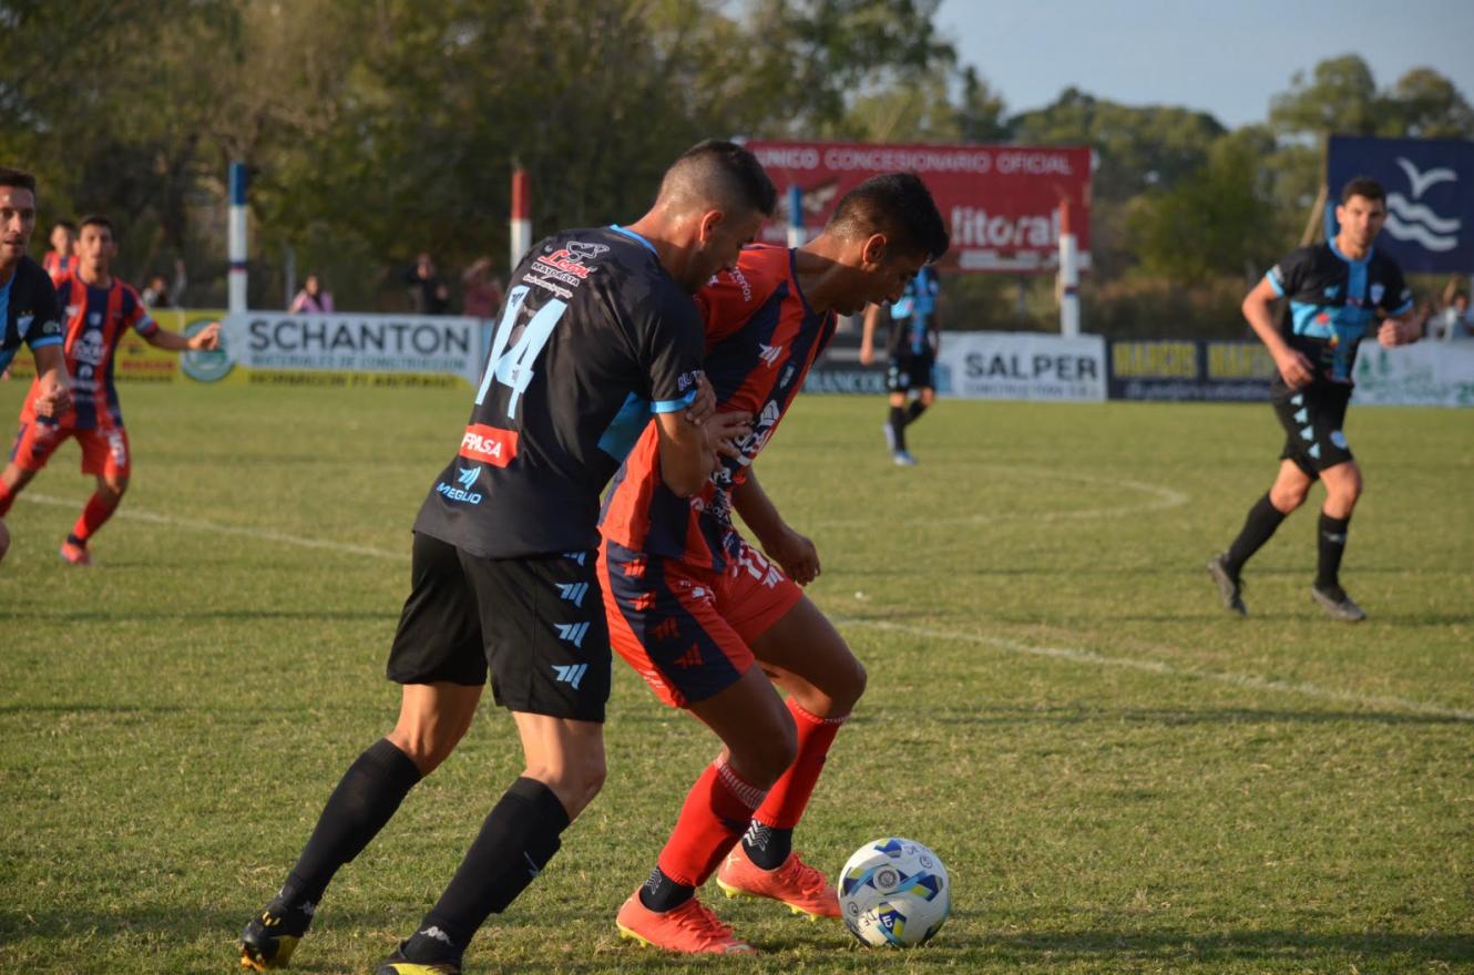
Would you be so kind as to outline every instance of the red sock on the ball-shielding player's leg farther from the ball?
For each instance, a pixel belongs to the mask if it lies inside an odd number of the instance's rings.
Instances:
[[[725,758],[706,766],[685,794],[681,816],[660,851],[660,870],[677,884],[700,887],[737,845],[762,789],[737,778]]]

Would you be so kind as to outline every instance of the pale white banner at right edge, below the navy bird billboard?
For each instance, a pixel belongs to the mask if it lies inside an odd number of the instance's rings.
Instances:
[[[1353,404],[1474,406],[1474,342],[1417,342],[1397,349],[1363,342]]]

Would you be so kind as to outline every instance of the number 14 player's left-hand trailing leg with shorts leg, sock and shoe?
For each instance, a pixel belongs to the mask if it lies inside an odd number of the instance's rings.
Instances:
[[[388,672],[402,685],[398,720],[343,773],[282,890],[246,923],[246,968],[286,966],[338,870],[383,829],[476,716],[486,679],[476,602],[455,548],[438,539],[414,536],[411,592]]]

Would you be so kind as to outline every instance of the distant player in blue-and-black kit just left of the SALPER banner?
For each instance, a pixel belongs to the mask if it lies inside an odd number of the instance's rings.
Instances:
[[[932,373],[936,371],[936,356],[942,348],[942,325],[936,314],[936,296],[940,290],[936,271],[921,268],[907,284],[905,293],[890,305],[890,339],[886,345],[890,417],[881,432],[890,448],[890,460],[902,467],[917,462],[907,449],[907,427],[936,402],[936,380]],[[880,312],[879,305],[865,311],[865,328],[859,340],[862,365],[870,365],[876,358],[876,324]],[[917,398],[908,404],[912,392]]]

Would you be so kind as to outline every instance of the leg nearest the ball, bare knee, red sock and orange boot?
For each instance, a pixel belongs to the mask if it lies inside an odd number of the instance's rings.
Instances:
[[[794,913],[834,918],[834,888],[793,851],[793,831],[834,736],[865,691],[865,669],[808,598],[750,642],[764,672],[789,694],[797,756],[753,813],[741,845],[722,862],[716,882],[728,897],[769,897]]]

